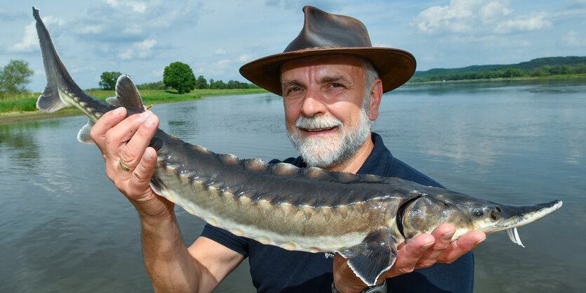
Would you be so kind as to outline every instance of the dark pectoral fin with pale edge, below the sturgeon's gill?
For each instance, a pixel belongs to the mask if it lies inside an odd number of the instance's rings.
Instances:
[[[342,249],[340,255],[366,285],[373,286],[397,259],[397,236],[389,228],[368,234],[359,245]]]

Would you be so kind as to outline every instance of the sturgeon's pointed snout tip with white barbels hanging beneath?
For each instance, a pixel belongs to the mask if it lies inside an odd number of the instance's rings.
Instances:
[[[509,239],[520,245],[521,247],[525,247],[523,242],[521,242],[521,237],[519,237],[519,233],[517,232],[517,228],[520,226],[524,226],[528,223],[533,221],[537,221],[538,219],[551,214],[554,211],[557,211],[561,208],[563,203],[561,200],[554,200],[553,202],[547,202],[544,204],[536,204],[534,206],[522,206],[522,207],[514,207],[509,206],[503,208],[503,215],[502,220],[498,223],[493,223],[493,225],[489,226],[487,229],[482,229],[486,233],[493,233],[502,230],[507,230],[507,235]],[[504,213],[509,215],[506,215]]]

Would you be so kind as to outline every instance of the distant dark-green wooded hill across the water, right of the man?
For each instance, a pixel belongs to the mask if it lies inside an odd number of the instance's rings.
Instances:
[[[472,65],[461,68],[434,68],[416,71],[410,82],[430,82],[498,77],[547,76],[586,73],[586,56],[546,57],[503,65]]]

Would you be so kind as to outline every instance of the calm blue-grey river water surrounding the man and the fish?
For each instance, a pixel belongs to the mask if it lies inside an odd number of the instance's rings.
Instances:
[[[161,129],[214,152],[293,157],[273,94],[154,105]],[[139,219],[107,179],[86,117],[0,125],[0,292],[152,292]],[[475,292],[586,290],[586,79],[408,84],[373,129],[395,157],[447,188],[560,211],[474,250]],[[203,221],[176,208],[192,243]],[[267,259],[267,262],[271,260]],[[215,292],[254,292],[248,261]]]

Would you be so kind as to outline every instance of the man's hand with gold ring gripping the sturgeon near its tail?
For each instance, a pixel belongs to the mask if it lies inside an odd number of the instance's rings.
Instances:
[[[171,219],[173,203],[157,196],[149,186],[157,152],[148,145],[159,119],[150,111],[125,117],[126,109],[118,108],[100,117],[91,129],[91,138],[106,162],[106,174],[142,219]],[[120,163],[131,170],[122,169]]]

